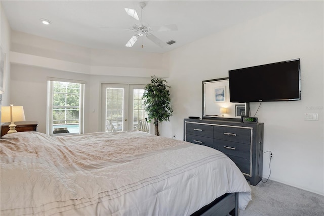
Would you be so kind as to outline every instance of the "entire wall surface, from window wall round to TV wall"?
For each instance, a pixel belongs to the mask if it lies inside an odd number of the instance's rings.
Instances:
[[[12,60],[11,100],[27,106],[26,118],[38,121],[39,131],[45,132],[46,76],[86,79],[86,132],[94,132],[100,130],[102,82],[145,84],[157,72],[168,77],[174,109],[170,122],[161,124],[160,133],[182,139],[183,119],[201,117],[202,80],[227,77],[230,69],[301,58],[302,100],[263,102],[256,116],[265,124],[264,150],[273,153],[270,179],[324,194],[323,2],[289,3],[166,55],[125,53],[125,59],[116,50],[75,47],[13,32],[11,50],[21,56]],[[37,40],[40,45],[35,43]],[[114,53],[121,57],[114,58]],[[34,66],[19,65],[24,58],[32,58]],[[39,68],[42,58],[49,62]],[[53,62],[57,60],[66,61],[65,70],[55,70]],[[78,74],[73,73],[72,63],[96,67]],[[250,105],[254,114],[259,103]],[[303,120],[304,113],[310,111],[319,114],[319,121]],[[264,177],[269,174],[268,163],[265,155]]]

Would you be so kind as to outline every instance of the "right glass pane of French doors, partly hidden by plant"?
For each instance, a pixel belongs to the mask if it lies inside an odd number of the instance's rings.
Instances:
[[[139,130],[139,123],[145,121],[147,117],[144,111],[143,93],[144,89],[142,88],[133,89],[133,129],[135,130]]]

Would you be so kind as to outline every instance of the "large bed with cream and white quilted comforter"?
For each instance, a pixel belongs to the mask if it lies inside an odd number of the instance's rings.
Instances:
[[[1,215],[226,215],[251,200],[222,152],[140,131],[19,132],[0,153]]]

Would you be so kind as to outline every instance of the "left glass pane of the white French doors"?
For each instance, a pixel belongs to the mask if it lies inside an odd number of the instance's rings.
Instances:
[[[124,88],[106,88],[106,132],[123,131]]]

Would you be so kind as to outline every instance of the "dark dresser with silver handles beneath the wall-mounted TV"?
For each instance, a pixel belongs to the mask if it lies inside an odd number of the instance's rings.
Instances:
[[[184,119],[184,141],[225,153],[251,185],[262,178],[263,123]]]

